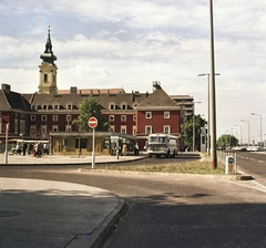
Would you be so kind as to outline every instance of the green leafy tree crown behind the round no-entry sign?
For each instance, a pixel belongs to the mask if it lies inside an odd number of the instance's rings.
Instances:
[[[98,118],[98,126],[95,131],[108,131],[109,122],[105,116],[102,115],[102,106],[96,99],[86,99],[79,105],[80,115],[73,120],[72,124],[78,124],[82,132],[91,132],[92,128],[88,126],[88,121],[91,116]]]

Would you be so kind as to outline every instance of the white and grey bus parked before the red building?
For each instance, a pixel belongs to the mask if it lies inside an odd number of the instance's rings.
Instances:
[[[175,157],[177,154],[177,137],[170,134],[150,134],[146,152],[150,157]]]

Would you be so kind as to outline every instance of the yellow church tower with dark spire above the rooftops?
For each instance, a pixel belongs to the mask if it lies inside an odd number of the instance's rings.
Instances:
[[[45,51],[40,55],[42,59],[40,68],[40,83],[39,93],[50,94],[57,93],[57,72],[58,66],[54,64],[57,56],[53,55],[52,42],[50,35],[50,28],[48,30],[48,39],[45,44]]]

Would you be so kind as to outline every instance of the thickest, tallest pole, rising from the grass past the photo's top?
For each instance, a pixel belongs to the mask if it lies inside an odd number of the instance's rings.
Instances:
[[[213,1],[209,0],[209,41],[211,41],[211,74],[209,74],[209,127],[211,127],[211,169],[217,168],[216,153],[216,101],[215,101],[215,65],[214,65],[214,31]]]

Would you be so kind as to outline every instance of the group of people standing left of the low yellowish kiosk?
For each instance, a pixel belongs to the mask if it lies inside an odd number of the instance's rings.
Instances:
[[[16,154],[21,154],[25,156],[25,154],[33,154],[35,157],[41,157],[42,155],[49,154],[49,147],[47,143],[38,142],[35,144],[27,144],[23,142],[22,146],[18,143],[16,146]]]

